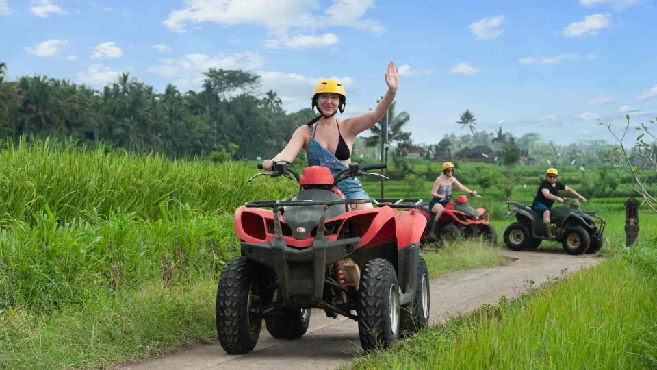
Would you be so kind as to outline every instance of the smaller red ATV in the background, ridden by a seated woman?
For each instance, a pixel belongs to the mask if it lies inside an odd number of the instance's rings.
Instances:
[[[422,211],[427,219],[428,242],[476,237],[484,238],[491,245],[498,241],[498,233],[491,225],[489,212],[485,208],[474,209],[467,203],[465,195],[459,195],[456,202],[450,201],[445,206],[436,225],[433,222],[436,215],[430,212],[429,206],[422,206]]]

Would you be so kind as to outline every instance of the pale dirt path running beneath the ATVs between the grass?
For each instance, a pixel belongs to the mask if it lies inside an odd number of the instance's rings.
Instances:
[[[568,256],[563,252],[537,251],[502,254],[514,258],[498,267],[457,271],[431,280],[431,323],[454,314],[470,312],[482,304],[495,304],[505,295],[517,297],[565,271],[573,273],[600,258]],[[329,319],[313,310],[307,334],[297,341],[272,338],[263,328],[255,350],[240,356],[227,355],[219,344],[201,345],[166,358],[125,364],[119,369],[333,369],[361,353],[357,324],[350,319]]]

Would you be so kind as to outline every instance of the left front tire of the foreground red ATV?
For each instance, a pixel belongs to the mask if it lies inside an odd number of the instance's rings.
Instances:
[[[228,261],[217,286],[216,323],[221,347],[228,354],[246,354],[258,342],[262,317],[255,263],[246,257]]]

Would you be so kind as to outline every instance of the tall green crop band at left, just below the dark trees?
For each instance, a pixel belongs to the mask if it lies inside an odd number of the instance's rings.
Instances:
[[[162,217],[162,208],[233,212],[244,201],[283,197],[292,182],[246,180],[257,171],[246,163],[214,165],[122,151],[81,151],[49,140],[8,142],[0,151],[0,224],[34,224],[48,206],[61,220],[87,214],[134,212]]]

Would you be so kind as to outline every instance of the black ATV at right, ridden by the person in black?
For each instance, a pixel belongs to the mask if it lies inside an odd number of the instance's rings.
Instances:
[[[543,227],[543,217],[524,203],[507,201],[509,211],[506,217],[515,213],[517,222],[512,223],[504,230],[504,243],[513,251],[537,249],[541,241],[548,240],[545,236],[537,234]],[[577,199],[564,198],[562,206],[550,209],[550,228],[555,238],[561,240],[563,250],[567,254],[595,253],[602,247],[602,232],[606,222],[595,215],[580,208]]]

